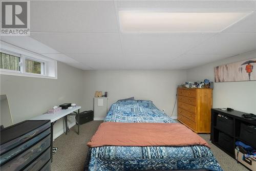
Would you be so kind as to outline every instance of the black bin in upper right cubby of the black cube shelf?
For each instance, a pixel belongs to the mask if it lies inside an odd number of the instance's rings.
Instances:
[[[241,123],[240,125],[240,139],[245,141],[244,143],[249,143],[247,145],[252,145],[254,148],[256,148],[256,129],[255,126],[251,127],[249,125],[246,125],[244,123]]]

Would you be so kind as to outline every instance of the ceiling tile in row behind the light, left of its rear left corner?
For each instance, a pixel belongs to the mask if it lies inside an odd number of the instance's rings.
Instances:
[[[31,33],[30,36],[63,54],[122,52],[119,34]]]

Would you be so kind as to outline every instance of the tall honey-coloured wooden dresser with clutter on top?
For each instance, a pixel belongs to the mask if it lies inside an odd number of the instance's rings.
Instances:
[[[178,88],[178,120],[196,133],[210,133],[212,89]]]

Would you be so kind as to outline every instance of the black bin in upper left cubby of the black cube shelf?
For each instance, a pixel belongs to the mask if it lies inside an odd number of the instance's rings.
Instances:
[[[234,135],[234,120],[232,118],[217,116],[216,127],[228,135]]]

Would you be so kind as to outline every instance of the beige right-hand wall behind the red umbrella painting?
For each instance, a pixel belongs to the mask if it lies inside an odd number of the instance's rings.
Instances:
[[[255,56],[256,51],[252,51],[187,70],[187,80],[202,81],[204,78],[208,78],[214,81],[214,67],[255,58]],[[256,66],[254,72],[256,72]],[[213,107],[230,107],[238,111],[256,114],[256,81],[214,82]]]

